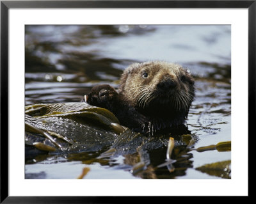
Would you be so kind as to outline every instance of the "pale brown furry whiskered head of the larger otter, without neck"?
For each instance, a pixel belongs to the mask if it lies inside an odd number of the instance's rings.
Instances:
[[[119,93],[132,106],[188,114],[195,97],[194,79],[180,65],[161,61],[134,63],[124,70]]]

